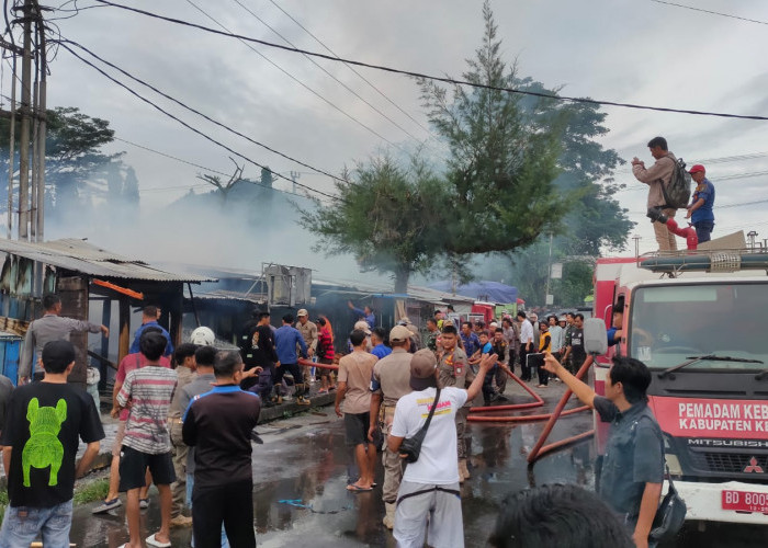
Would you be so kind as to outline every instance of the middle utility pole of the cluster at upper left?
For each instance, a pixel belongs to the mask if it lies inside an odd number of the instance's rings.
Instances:
[[[30,239],[30,107],[32,101],[32,0],[24,0],[24,54],[21,61],[21,136],[19,142],[19,239]]]

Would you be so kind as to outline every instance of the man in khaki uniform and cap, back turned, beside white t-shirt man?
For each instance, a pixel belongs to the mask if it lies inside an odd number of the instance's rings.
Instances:
[[[414,354],[408,353],[410,346],[410,331],[405,326],[395,326],[389,331],[389,345],[392,354],[383,357],[373,366],[371,376],[371,416],[368,430],[368,438],[373,442],[374,434],[381,425],[382,434],[386,437],[395,416],[395,406],[406,393],[410,393],[410,359]],[[382,499],[386,507],[384,525],[392,528],[395,524],[395,502],[397,489],[403,478],[403,460],[396,452],[384,448],[382,455],[384,464],[384,486]]]

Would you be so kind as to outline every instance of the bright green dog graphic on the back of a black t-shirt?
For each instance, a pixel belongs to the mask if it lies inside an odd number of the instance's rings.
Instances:
[[[26,408],[30,421],[30,439],[21,454],[24,487],[30,487],[30,468],[50,467],[48,486],[58,483],[58,470],[64,459],[64,446],[58,441],[61,423],[67,420],[67,402],[58,400],[55,408],[42,408],[37,398],[32,398]]]

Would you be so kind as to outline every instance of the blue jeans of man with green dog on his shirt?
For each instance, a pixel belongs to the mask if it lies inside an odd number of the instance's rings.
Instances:
[[[26,548],[43,536],[45,548],[69,548],[72,526],[72,501],[49,509],[8,506],[0,529],[0,548]]]

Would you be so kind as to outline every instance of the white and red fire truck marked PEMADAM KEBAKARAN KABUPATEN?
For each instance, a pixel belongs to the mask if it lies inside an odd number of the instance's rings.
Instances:
[[[687,520],[768,523],[768,253],[600,259],[594,313],[607,327],[614,305],[622,334],[596,359],[596,391],[605,393],[613,353],[645,363]],[[596,433],[601,455],[599,420]]]

